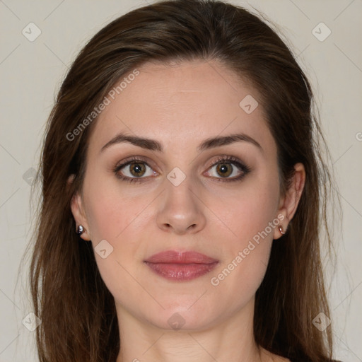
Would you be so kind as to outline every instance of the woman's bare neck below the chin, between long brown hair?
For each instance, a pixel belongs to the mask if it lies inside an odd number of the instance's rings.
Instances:
[[[253,334],[254,300],[243,310],[209,325],[160,328],[117,305],[121,349],[117,362],[271,361]],[[186,327],[186,325],[185,325]]]

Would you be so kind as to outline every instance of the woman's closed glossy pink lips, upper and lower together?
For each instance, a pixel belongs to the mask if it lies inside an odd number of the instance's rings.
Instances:
[[[153,272],[173,281],[189,281],[209,273],[218,260],[199,252],[158,252],[144,261]]]

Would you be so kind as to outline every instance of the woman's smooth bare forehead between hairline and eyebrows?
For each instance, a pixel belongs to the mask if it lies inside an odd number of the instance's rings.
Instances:
[[[257,91],[218,62],[146,63],[136,71],[116,83],[123,81],[122,88],[115,99],[108,97],[110,104],[91,135],[91,149],[102,148],[119,132],[157,139],[175,152],[236,132],[271,141],[262,107],[251,113],[242,107],[244,99],[258,100]]]

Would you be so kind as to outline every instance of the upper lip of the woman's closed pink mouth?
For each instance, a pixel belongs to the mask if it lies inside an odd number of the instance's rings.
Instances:
[[[212,264],[218,262],[213,257],[194,251],[177,252],[176,250],[165,250],[148,257],[145,262],[150,263],[174,263],[174,264]]]

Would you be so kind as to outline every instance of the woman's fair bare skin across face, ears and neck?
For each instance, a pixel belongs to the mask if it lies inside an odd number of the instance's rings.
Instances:
[[[258,348],[252,330],[255,292],[279,228],[217,286],[211,277],[278,216],[288,228],[304,187],[303,165],[295,165],[291,187],[281,195],[276,144],[262,107],[247,114],[239,106],[258,93],[218,62],[148,63],[139,71],[95,124],[83,189],[71,202],[77,225],[86,228],[81,237],[93,247],[101,240],[113,247],[105,259],[96,252],[95,258],[117,306],[117,362],[288,361]],[[164,152],[127,142],[100,151],[119,132],[159,141]],[[261,148],[240,141],[197,151],[205,139],[241,132]],[[146,159],[142,182],[119,180],[112,171],[130,156]],[[218,156],[238,158],[250,173],[223,182],[213,166]],[[234,171],[228,177],[240,175],[229,162]],[[178,186],[167,178],[175,167],[186,176]],[[119,173],[132,177],[131,170]],[[144,264],[163,250],[194,250],[219,263],[192,281],[170,281]],[[168,324],[175,313],[185,322],[178,330]]]

